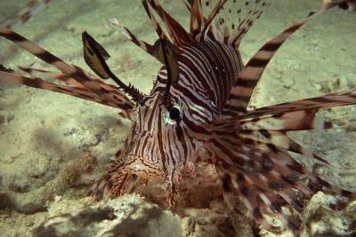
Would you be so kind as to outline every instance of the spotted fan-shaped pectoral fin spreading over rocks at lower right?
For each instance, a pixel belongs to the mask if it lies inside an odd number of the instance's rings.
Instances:
[[[348,97],[345,97],[345,94]],[[332,97],[325,99],[325,103],[340,104],[356,103],[352,97],[352,92],[339,93],[332,101]],[[352,101],[353,100],[353,101]],[[313,102],[320,103],[320,99]],[[311,102],[311,101],[309,101]],[[227,201],[234,204],[233,192],[241,194],[241,199],[252,213],[258,223],[271,229],[271,224],[266,222],[262,214],[262,209],[267,208],[282,223],[290,228],[294,233],[300,231],[300,222],[295,222],[292,217],[286,216],[281,207],[287,203],[296,211],[301,213],[304,207],[304,199],[312,197],[314,189],[304,183],[301,178],[308,178],[312,187],[318,190],[330,192],[332,194],[344,195],[353,199],[356,193],[331,185],[317,173],[309,171],[302,164],[296,162],[289,154],[293,152],[302,154],[318,160],[315,167],[323,165],[330,167],[328,161],[318,155],[312,154],[303,146],[299,146],[291,138],[287,137],[287,130],[312,129],[313,125],[308,124],[314,121],[317,108],[322,105],[315,104],[310,110],[303,111],[303,103],[299,105],[302,110],[297,110],[298,105],[291,102],[288,109],[295,108],[295,111],[279,116],[267,116],[266,113],[247,117],[248,119],[229,118],[225,122],[217,123],[215,126],[216,137],[211,140],[208,146],[210,153],[216,158],[216,166],[223,180],[223,194]],[[312,104],[312,102],[311,102]],[[284,107],[287,107],[285,104]],[[304,107],[305,109],[305,107]],[[271,109],[270,112],[277,110]],[[251,112],[254,114],[254,112]],[[263,121],[266,119],[267,121]],[[271,120],[273,119],[273,120]],[[229,123],[230,122],[232,123]],[[237,130],[232,133],[231,127]],[[325,129],[328,129],[327,126]],[[223,134],[229,134],[229,139],[223,138]]]

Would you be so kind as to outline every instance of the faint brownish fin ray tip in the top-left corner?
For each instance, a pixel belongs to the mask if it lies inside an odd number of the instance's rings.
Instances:
[[[2,20],[0,26],[4,28],[12,28],[12,26],[19,21],[25,23],[33,17],[38,9],[51,1],[52,0],[32,0],[25,8],[21,9],[19,12],[13,13],[9,18]]]

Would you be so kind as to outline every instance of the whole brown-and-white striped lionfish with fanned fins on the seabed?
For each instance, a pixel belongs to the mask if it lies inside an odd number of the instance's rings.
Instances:
[[[18,16],[28,20],[34,6],[48,2],[34,0]],[[66,63],[12,31],[11,24],[7,24],[7,28],[0,29],[0,36],[61,73],[20,67],[21,74],[1,66],[0,78],[116,107],[132,121],[125,146],[93,187],[92,194],[97,199],[125,194],[138,180],[160,178],[166,184],[166,206],[174,208],[183,173],[194,172],[197,162],[209,162],[221,179],[223,198],[231,209],[237,209],[239,196],[258,224],[267,229],[272,227],[263,217],[265,209],[298,233],[300,223],[283,213],[283,205],[302,212],[303,199],[311,198],[315,190],[324,189],[350,199],[355,193],[329,184],[296,162],[290,153],[330,166],[328,161],[289,138],[287,131],[332,128],[332,122],[317,122],[317,112],[322,108],[356,104],[356,91],[255,109],[247,105],[271,58],[298,28],[336,5],[347,8],[354,1],[324,1],[318,12],[312,12],[265,43],[246,65],[239,44],[270,4],[260,0],[243,1],[241,4],[249,5],[251,10],[239,19],[239,24],[229,26],[223,18],[217,19],[226,2],[218,0],[205,15],[201,0],[183,1],[190,12],[187,31],[158,0],[142,0],[158,35],[154,44],[138,39],[117,20],[111,20],[130,41],[163,65],[148,95],[131,84],[126,85],[111,72],[106,64],[109,53],[86,32],[82,35],[85,62],[98,76]],[[237,7],[238,13],[241,9]],[[167,33],[153,11],[163,21]],[[33,75],[34,72],[65,84],[46,82]],[[108,78],[117,86],[101,80]],[[309,184],[302,178],[307,178]]]

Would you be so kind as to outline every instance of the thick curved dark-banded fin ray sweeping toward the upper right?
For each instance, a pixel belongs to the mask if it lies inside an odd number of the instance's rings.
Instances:
[[[226,114],[229,114],[229,112],[230,114],[240,114],[247,111],[247,105],[255,86],[261,79],[263,71],[271,61],[272,57],[279,50],[279,47],[285,43],[298,28],[301,28],[306,22],[312,20],[316,15],[322,12],[325,11],[320,10],[319,12],[315,12],[285,29],[278,36],[265,43],[263,47],[255,53],[255,56],[248,60],[247,65],[239,74],[239,78],[231,90],[230,99],[228,99],[225,107]]]

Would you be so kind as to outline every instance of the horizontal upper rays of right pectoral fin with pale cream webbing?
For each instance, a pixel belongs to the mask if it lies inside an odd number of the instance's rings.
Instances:
[[[289,152],[312,157],[322,165],[330,167],[328,161],[289,138],[287,131],[331,129],[333,122],[318,119],[317,112],[323,108],[355,105],[355,98],[356,91],[346,91],[262,107],[239,116],[234,120],[234,124],[243,138],[250,138],[255,142],[263,142]]]

